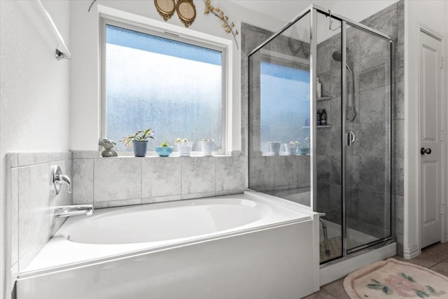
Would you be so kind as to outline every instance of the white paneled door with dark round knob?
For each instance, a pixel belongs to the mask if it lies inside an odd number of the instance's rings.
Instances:
[[[420,32],[420,248],[442,239],[442,42]]]

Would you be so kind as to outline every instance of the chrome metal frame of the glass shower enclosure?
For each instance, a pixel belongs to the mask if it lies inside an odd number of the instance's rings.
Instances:
[[[272,41],[273,39],[275,39],[277,36],[281,35],[286,29],[288,29],[289,27],[293,26],[295,24],[295,22],[297,22],[298,20],[302,19],[305,15],[310,14],[310,54],[309,54],[309,62],[310,62],[310,78],[311,78],[311,82],[310,82],[310,137],[311,137],[311,148],[310,148],[310,153],[311,153],[311,172],[310,172],[310,179],[311,179],[311,183],[310,183],[310,190],[311,190],[311,209],[316,210],[315,207],[317,207],[316,205],[316,195],[317,195],[317,174],[316,174],[316,168],[317,168],[317,157],[316,157],[316,71],[317,71],[317,67],[316,67],[316,53],[317,53],[317,13],[322,13],[323,15],[330,17],[330,18],[335,18],[335,20],[339,20],[342,24],[342,65],[347,65],[346,62],[346,27],[347,25],[351,26],[351,27],[356,27],[358,29],[362,29],[365,32],[370,32],[371,34],[375,34],[383,39],[386,39],[389,44],[390,44],[390,49],[391,49],[391,59],[390,59],[390,69],[391,69],[391,94],[390,94],[390,115],[393,115],[393,99],[395,97],[394,95],[394,90],[395,90],[395,74],[394,74],[394,65],[393,62],[395,61],[394,59],[394,55],[395,55],[395,40],[392,39],[390,36],[388,36],[387,34],[384,34],[382,32],[377,31],[376,29],[372,29],[370,27],[367,27],[365,25],[360,24],[359,22],[350,20],[349,18],[346,18],[342,15],[339,15],[337,13],[334,13],[330,10],[327,10],[325,8],[322,8],[321,6],[316,6],[315,4],[309,6],[307,9],[305,9],[304,11],[302,11],[302,13],[299,13],[295,18],[293,18],[293,20],[291,20],[290,22],[288,22],[287,25],[285,25],[282,29],[279,30],[279,32],[276,32],[276,34],[273,34],[272,36],[269,37],[269,39],[267,39],[266,41],[264,41],[263,43],[261,43],[259,46],[255,47],[251,53],[249,53],[248,57],[251,56],[253,53],[257,52],[258,50],[260,50],[260,48],[262,48],[263,46],[265,46],[265,44],[269,43],[270,41]],[[353,71],[350,69],[350,71],[353,74]],[[342,67],[342,120],[346,120],[346,102],[347,102],[347,67]],[[354,77],[354,76],[353,76]],[[354,107],[354,78],[353,78],[353,84],[352,84],[352,89],[353,89],[353,107]],[[354,108],[353,108],[354,110]],[[353,118],[354,119],[354,118]],[[391,120],[391,118],[390,118]],[[346,123],[349,122],[349,120],[346,121],[342,121],[342,134],[345,135],[346,132]],[[321,267],[327,267],[328,265],[332,265],[335,263],[339,263],[342,260],[348,259],[348,258],[352,258],[353,256],[358,256],[360,254],[365,253],[366,251],[370,251],[370,250],[374,250],[377,249],[381,246],[384,246],[386,244],[390,244],[392,242],[395,242],[395,223],[393,221],[393,217],[395,215],[395,209],[394,209],[394,197],[393,195],[395,194],[395,190],[393,188],[393,183],[392,183],[392,176],[391,174],[393,173],[393,165],[394,165],[394,159],[393,159],[393,155],[392,155],[392,149],[394,148],[394,144],[393,144],[393,121],[390,122],[389,125],[389,132],[388,132],[388,137],[389,137],[389,153],[390,153],[390,168],[389,168],[389,177],[391,178],[389,180],[390,186],[389,186],[389,190],[391,190],[391,219],[390,219],[390,228],[391,228],[391,236],[390,237],[384,237],[382,239],[378,239],[377,241],[374,242],[370,242],[367,244],[364,244],[363,246],[359,246],[356,247],[356,250],[347,250],[346,249],[346,242],[347,242],[347,237],[346,237],[346,169],[345,167],[342,167],[342,211],[344,211],[343,216],[342,216],[342,240],[343,240],[343,252],[342,252],[342,256],[340,258],[337,258],[335,260],[331,260],[328,263],[325,263],[324,265],[321,265]],[[343,136],[342,136],[343,137]],[[346,146],[342,146],[342,165],[346,165]]]

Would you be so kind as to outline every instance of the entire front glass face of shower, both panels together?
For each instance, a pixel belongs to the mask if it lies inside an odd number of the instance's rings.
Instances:
[[[326,263],[391,237],[391,42],[320,11],[316,36],[325,123],[316,125],[314,209]]]

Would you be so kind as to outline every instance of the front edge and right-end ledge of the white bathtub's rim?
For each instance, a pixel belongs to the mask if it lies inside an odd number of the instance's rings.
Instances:
[[[291,220],[287,220],[287,221],[279,221],[276,223],[259,225],[259,226],[255,226],[252,228],[244,228],[244,229],[240,229],[240,230],[236,230],[236,231],[222,232],[222,233],[218,232],[214,235],[208,235],[205,237],[196,237],[194,239],[188,239],[188,240],[181,241],[181,242],[164,244],[161,246],[153,246],[151,248],[143,248],[143,249],[137,249],[137,250],[133,250],[133,251],[124,251],[122,253],[111,254],[111,255],[102,256],[99,258],[90,258],[87,260],[82,260],[82,261],[78,261],[78,262],[74,262],[74,263],[66,263],[66,264],[55,265],[55,266],[51,266],[51,267],[41,267],[41,268],[34,269],[34,270],[27,270],[27,268],[25,268],[24,270],[18,272],[17,280],[29,279],[31,277],[38,277],[38,276],[45,275],[45,274],[48,274],[51,272],[64,272],[64,271],[71,270],[71,269],[77,268],[77,267],[88,267],[90,265],[97,265],[100,263],[108,263],[108,262],[111,262],[114,260],[122,260],[125,258],[134,257],[134,256],[142,256],[145,254],[158,252],[158,251],[167,251],[169,249],[176,249],[176,248],[180,248],[183,246],[199,244],[202,242],[210,242],[215,239],[225,239],[225,238],[239,236],[239,235],[246,235],[246,234],[249,234],[252,232],[269,230],[272,228],[281,228],[286,225],[294,225],[297,223],[313,221],[314,217],[318,217],[318,213],[311,211],[310,209],[307,209],[308,207],[303,206],[302,204],[297,204],[295,202],[283,200],[283,199],[281,199],[279,197],[275,197],[273,195],[267,195],[266,193],[260,193],[258,191],[253,191],[253,190],[246,190],[246,191],[244,191],[244,193],[238,193],[238,194],[231,195],[231,196],[237,196],[237,195],[244,195],[244,197],[247,197],[248,199],[258,200],[265,204],[272,204],[272,202],[274,202],[277,205],[277,207],[280,207],[281,209],[287,209],[288,211],[296,212],[297,216],[300,216],[300,217],[294,218]],[[229,195],[224,195],[224,196],[229,196]],[[213,197],[204,197],[204,198],[213,198]],[[195,200],[195,199],[192,199],[192,200]],[[301,215],[299,215],[299,214],[301,214]],[[51,239],[52,238],[50,238],[48,240],[48,242],[50,242]],[[48,244],[48,242],[47,242],[47,244]],[[95,244],[95,245],[97,245],[97,244]]]

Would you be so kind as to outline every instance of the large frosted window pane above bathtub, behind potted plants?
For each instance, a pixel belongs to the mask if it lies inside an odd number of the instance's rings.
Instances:
[[[118,141],[151,127],[158,140],[149,151],[178,137],[195,141],[193,151],[215,139],[222,151],[223,53],[109,24],[105,32],[106,136]]]

